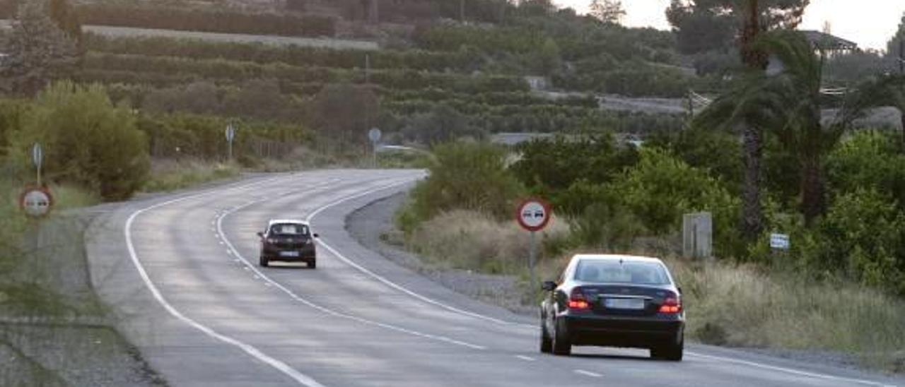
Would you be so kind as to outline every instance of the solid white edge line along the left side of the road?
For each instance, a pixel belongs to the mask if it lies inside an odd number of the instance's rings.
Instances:
[[[254,184],[242,185],[237,188],[248,188],[251,186],[256,186],[256,185],[264,184],[267,182],[271,182],[272,180],[276,180],[276,178],[268,179],[263,182],[256,182]],[[170,200],[170,201],[167,201],[164,203],[157,203],[157,204],[142,208],[136,212],[132,212],[132,214],[129,215],[129,219],[126,221],[125,226],[123,226],[123,231],[126,236],[126,247],[129,250],[129,257],[131,258],[132,263],[135,265],[135,269],[138,270],[138,275],[145,282],[145,286],[148,288],[148,290],[151,291],[151,295],[153,295],[154,298],[157,299],[157,303],[160,304],[165,309],[167,309],[167,312],[171,316],[174,316],[177,319],[181,320],[182,322],[186,323],[187,325],[192,326],[195,329],[203,332],[205,335],[208,335],[210,337],[213,337],[214,339],[220,340],[228,345],[234,345],[236,347],[239,347],[246,354],[250,354],[255,359],[258,359],[258,360],[262,361],[263,363],[266,363],[266,364],[270,365],[271,367],[277,369],[281,373],[286,374],[287,376],[292,378],[292,380],[299,382],[301,385],[305,385],[308,387],[323,387],[323,384],[320,384],[319,382],[315,381],[310,376],[308,376],[304,373],[300,373],[299,371],[290,367],[288,364],[282,363],[281,361],[274,359],[267,354],[262,353],[259,349],[255,348],[254,346],[245,344],[239,340],[234,339],[233,337],[219,334],[216,331],[214,331],[214,329],[204,326],[204,325],[196,322],[195,320],[183,315],[182,312],[176,310],[176,308],[173,307],[172,305],[170,305],[169,302],[167,301],[167,299],[163,297],[163,294],[160,293],[160,290],[157,289],[157,286],[154,285],[154,282],[152,282],[151,278],[148,276],[148,271],[145,270],[145,267],[141,264],[141,261],[138,260],[138,254],[135,251],[135,245],[132,243],[132,223],[135,222],[135,219],[138,217],[138,215],[140,215],[143,212],[148,212],[150,210],[153,210],[153,209],[156,209],[159,207],[163,207],[165,205],[178,203],[178,202],[182,202],[187,199],[190,199],[190,198],[206,196],[211,193],[218,193],[218,192],[222,192],[222,191],[218,190],[216,192],[198,193],[195,195],[183,196],[181,198],[173,199],[173,200]]]

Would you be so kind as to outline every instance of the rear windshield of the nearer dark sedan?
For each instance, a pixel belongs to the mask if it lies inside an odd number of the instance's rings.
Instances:
[[[575,278],[594,283],[669,285],[666,269],[657,262],[580,260]]]

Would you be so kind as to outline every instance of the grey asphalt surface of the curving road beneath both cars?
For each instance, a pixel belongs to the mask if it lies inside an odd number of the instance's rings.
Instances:
[[[419,171],[267,175],[124,203],[90,228],[91,274],[176,386],[883,386],[900,379],[710,346],[538,352],[538,324],[453,293],[354,241],[355,209]],[[257,266],[271,218],[312,222],[318,269]]]

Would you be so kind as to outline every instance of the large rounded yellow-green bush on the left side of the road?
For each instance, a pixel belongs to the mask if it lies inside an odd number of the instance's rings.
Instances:
[[[94,189],[105,199],[128,198],[148,173],[148,140],[129,109],[116,107],[100,85],[59,82],[44,90],[15,134],[17,158],[35,142],[45,150],[53,181]]]

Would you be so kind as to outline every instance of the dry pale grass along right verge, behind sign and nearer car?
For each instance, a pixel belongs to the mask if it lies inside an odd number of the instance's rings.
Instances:
[[[544,238],[568,233],[554,222]],[[408,247],[440,268],[517,275],[522,302],[533,305],[527,286],[528,234],[513,222],[496,222],[476,212],[449,212],[424,222]],[[816,283],[805,276],[726,262],[702,264],[675,258],[676,241],[643,241],[624,253],[664,260],[683,288],[688,335],[712,345],[839,351],[866,365],[905,373],[905,300],[851,283]],[[538,262],[538,279],[557,278],[574,249]]]

